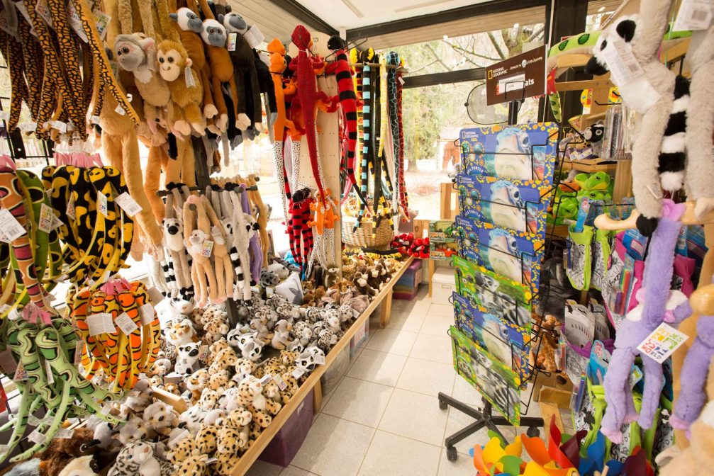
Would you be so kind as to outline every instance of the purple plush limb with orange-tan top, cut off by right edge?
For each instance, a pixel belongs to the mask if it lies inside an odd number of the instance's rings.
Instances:
[[[690,296],[690,303],[696,313],[697,334],[694,343],[687,351],[680,372],[680,392],[675,400],[674,415],[670,417],[670,425],[678,430],[688,430],[694,420],[699,417],[705,404],[705,383],[714,357],[714,316],[706,315],[708,296],[714,285],[698,288]],[[714,382],[709,382],[712,385]]]

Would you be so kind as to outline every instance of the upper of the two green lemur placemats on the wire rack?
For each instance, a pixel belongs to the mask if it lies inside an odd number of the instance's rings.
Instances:
[[[457,293],[467,296],[487,313],[531,331],[533,294],[528,287],[458,256],[453,258],[453,267]]]

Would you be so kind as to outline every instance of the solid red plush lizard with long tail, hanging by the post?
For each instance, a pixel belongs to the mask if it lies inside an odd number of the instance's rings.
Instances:
[[[317,88],[315,69],[322,68],[323,60],[308,54],[312,44],[312,36],[304,26],[296,26],[291,38],[293,39],[293,44],[295,44],[299,50],[297,58],[293,59],[290,64],[290,68],[296,71],[298,76],[298,97],[293,99],[293,107],[296,103],[299,103],[301,107],[305,124],[305,134],[308,141],[310,165],[315,181],[317,182],[320,196],[323,201],[326,201],[327,206],[327,201],[331,201],[331,199],[328,198],[325,193],[325,178],[322,173],[320,158],[318,157],[317,127],[315,121],[318,101],[323,101],[323,103],[331,102],[331,98],[322,91],[318,91]]]

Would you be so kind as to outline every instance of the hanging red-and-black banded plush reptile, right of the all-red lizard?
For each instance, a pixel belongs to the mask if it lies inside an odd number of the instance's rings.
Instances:
[[[352,79],[352,67],[347,58],[346,42],[339,35],[333,35],[327,42],[327,47],[335,54],[335,59],[325,68],[326,74],[334,74],[337,80],[337,91],[342,108],[344,128],[347,131],[347,151],[345,168],[347,181],[345,191],[354,189],[360,201],[367,204],[366,198],[360,193],[355,177],[355,149],[357,144],[357,94]]]

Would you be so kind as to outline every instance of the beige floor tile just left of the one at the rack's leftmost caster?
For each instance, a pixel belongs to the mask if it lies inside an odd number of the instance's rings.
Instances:
[[[376,428],[393,390],[386,385],[346,377],[322,412]]]

